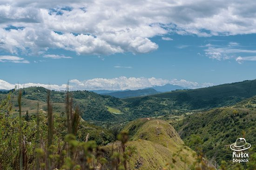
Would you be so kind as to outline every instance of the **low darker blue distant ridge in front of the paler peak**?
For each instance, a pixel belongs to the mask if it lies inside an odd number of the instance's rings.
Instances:
[[[149,94],[160,93],[153,88],[139,89],[139,90],[126,90],[126,91],[117,91],[113,93],[105,93],[104,95],[110,95],[117,98],[126,98],[126,97],[137,97],[144,96]]]

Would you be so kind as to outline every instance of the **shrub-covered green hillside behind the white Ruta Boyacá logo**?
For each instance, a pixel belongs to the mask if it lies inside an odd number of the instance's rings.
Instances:
[[[194,135],[198,135],[203,141],[200,147],[208,159],[216,160],[218,164],[225,160],[232,165],[229,145],[237,138],[244,136],[252,146],[256,145],[256,109],[238,106],[185,115],[175,129],[187,144]],[[192,146],[192,149],[195,147]],[[253,148],[249,151],[253,153]]]

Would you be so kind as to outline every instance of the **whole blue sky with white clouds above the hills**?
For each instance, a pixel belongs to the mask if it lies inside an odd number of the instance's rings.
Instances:
[[[255,0],[0,0],[0,89],[255,79]]]

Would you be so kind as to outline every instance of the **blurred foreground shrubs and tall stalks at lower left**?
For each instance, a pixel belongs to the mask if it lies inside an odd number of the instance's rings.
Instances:
[[[1,101],[0,112],[0,169],[30,170],[37,169],[94,169],[95,161],[102,160],[100,145],[106,145],[113,137],[108,131],[95,126],[90,127],[80,120],[79,111],[69,106],[71,133],[68,133],[66,120],[52,114],[48,96],[48,114],[38,112],[31,120],[21,117],[21,93],[19,95],[20,117],[12,117],[11,94]],[[38,109],[39,110],[39,109]],[[27,112],[28,113],[28,112]],[[20,122],[20,123],[19,123]],[[84,141],[81,132],[92,132],[91,138],[98,137],[103,143]],[[81,132],[78,130],[81,129]],[[75,136],[78,134],[77,136]],[[89,134],[89,133],[88,133]],[[105,141],[108,139],[108,141]],[[19,145],[21,144],[21,145]],[[128,159],[128,158],[127,158]],[[20,160],[20,161],[19,161]],[[101,161],[102,162],[102,161]],[[104,161],[103,161],[104,162]]]

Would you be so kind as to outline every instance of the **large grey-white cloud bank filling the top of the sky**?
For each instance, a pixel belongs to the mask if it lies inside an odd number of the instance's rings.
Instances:
[[[4,0],[0,2],[0,50],[147,53],[158,48],[151,38],[168,33],[256,33],[254,6],[255,0]]]

